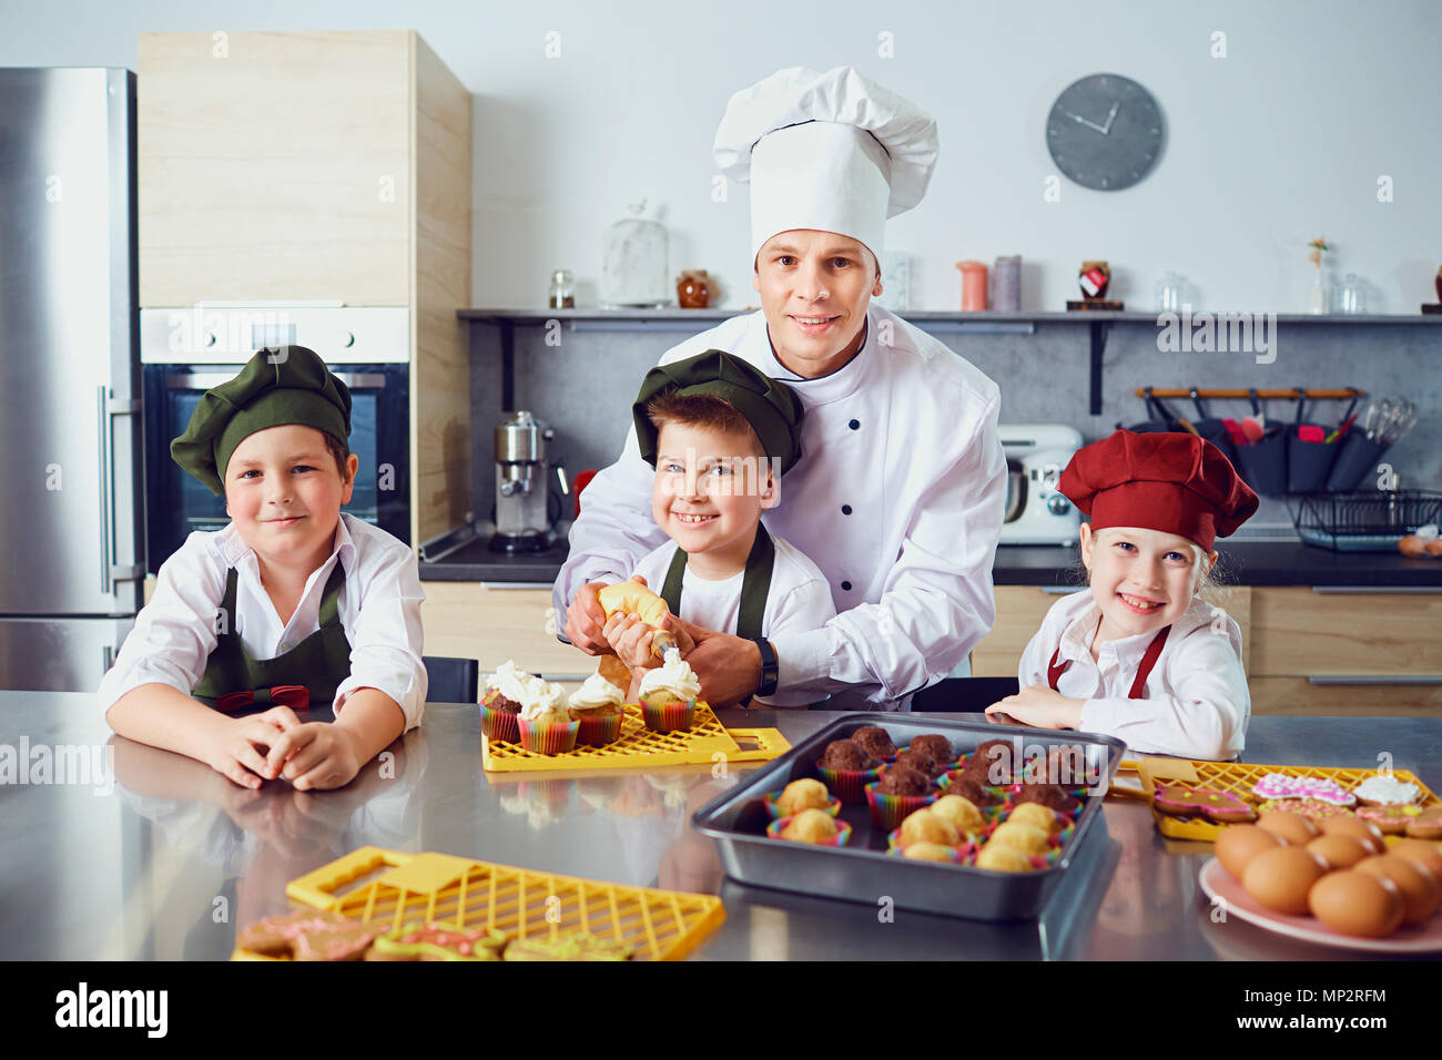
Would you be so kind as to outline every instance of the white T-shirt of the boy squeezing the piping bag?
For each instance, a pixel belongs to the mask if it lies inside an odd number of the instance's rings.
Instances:
[[[809,633],[836,617],[836,606],[831,600],[831,588],[820,573],[796,545],[771,538],[776,547],[776,561],[771,565],[771,587],[766,594],[766,611],[761,616],[761,636],[774,642],[789,633]],[[671,558],[676,554],[676,542],[668,541],[655,552],[636,564],[633,574],[646,578],[653,593],[660,593],[671,570]],[[721,633],[735,633],[741,617],[741,586],[746,571],[730,578],[708,581],[699,578],[688,567],[681,577],[681,616],[702,629]],[[805,692],[783,692],[776,689],[767,698],[753,697],[757,707],[805,707],[820,697]]]

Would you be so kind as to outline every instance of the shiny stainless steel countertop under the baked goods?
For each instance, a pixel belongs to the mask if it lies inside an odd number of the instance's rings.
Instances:
[[[722,712],[727,724],[774,725],[793,741],[835,717]],[[32,770],[48,756],[52,777],[0,785],[0,959],[224,959],[236,924],[288,909],[288,880],[366,844],[720,893],[725,923],[695,959],[1376,959],[1234,917],[1213,923],[1197,887],[1210,844],[1164,839],[1146,806],[1128,799],[1106,802],[1106,829],[1035,923],[906,910],[885,922],[871,906],[740,887],[689,823],[734,774],[487,777],[479,723],[472,705],[433,704],[421,731],[342,792],[247,792],[200,763],[114,737],[91,695],[0,692],[0,769],[6,756],[27,754]],[[1244,757],[1374,767],[1384,753],[1435,789],[1442,720],[1260,717]]]

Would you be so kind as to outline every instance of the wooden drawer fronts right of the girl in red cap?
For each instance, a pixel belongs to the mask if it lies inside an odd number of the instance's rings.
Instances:
[[[1259,587],[1253,597],[1253,712],[1442,712],[1442,591]]]

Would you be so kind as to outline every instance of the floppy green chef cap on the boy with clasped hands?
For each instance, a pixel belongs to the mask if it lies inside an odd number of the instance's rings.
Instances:
[[[350,438],[350,389],[304,346],[262,349],[229,382],[208,389],[170,457],[224,496],[225,467],[247,437],[267,427],[301,424],[342,444]]]

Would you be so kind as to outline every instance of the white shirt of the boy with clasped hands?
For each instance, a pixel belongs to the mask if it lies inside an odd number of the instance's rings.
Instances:
[[[350,676],[336,688],[339,714],[358,688],[375,688],[399,704],[405,728],[421,724],[425,666],[421,662],[421,591],[415,554],[371,524],[342,512],[335,548],[306,580],[300,606],[281,622],[261,586],[255,552],[231,524],[195,532],[164,561],[156,593],[125,637],[99,685],[102,711],[140,685],[169,685],[190,695],[218,643],[216,611],[225,574],[236,568],[235,632],[252,659],[284,655],[320,629],[320,600],[336,564],[345,570],[340,624],[350,640]]]

